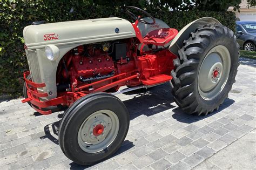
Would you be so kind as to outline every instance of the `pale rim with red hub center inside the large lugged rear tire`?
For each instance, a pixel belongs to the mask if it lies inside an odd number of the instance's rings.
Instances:
[[[225,46],[215,46],[207,53],[198,73],[198,91],[203,99],[212,100],[224,89],[230,66],[230,52]]]

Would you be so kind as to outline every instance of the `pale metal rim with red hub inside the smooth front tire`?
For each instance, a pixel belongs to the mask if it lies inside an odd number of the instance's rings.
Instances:
[[[78,144],[87,153],[100,152],[112,144],[118,131],[119,119],[116,113],[99,110],[87,117],[80,126]]]

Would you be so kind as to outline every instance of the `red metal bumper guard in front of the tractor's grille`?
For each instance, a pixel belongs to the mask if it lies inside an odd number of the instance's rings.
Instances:
[[[38,87],[45,87],[45,83],[35,83],[31,80],[28,80],[27,77],[29,76],[30,72],[26,71],[23,73],[24,80],[26,82],[26,88],[28,92],[28,98],[23,99],[22,103],[30,102],[32,104],[32,107],[41,114],[51,114],[52,111],[48,110],[47,107],[49,106],[56,106],[59,104],[66,104],[66,97],[57,97],[51,100],[47,101],[40,101],[39,98],[41,97],[47,97],[47,93],[38,93],[37,88]]]

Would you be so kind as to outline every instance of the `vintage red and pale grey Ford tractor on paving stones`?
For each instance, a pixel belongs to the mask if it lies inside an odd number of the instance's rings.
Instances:
[[[77,164],[109,158],[124,141],[129,112],[114,94],[170,82],[184,112],[206,115],[218,110],[235,81],[239,45],[216,19],[197,19],[178,32],[142,9],[126,12],[134,23],[35,22],[23,31],[30,71],[22,102],[41,114],[67,108],[59,144]]]

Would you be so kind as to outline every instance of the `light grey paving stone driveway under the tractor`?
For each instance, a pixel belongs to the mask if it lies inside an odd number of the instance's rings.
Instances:
[[[73,163],[58,146],[62,112],[40,115],[21,99],[2,101],[1,169],[196,167],[255,128],[256,60],[240,62],[229,98],[206,117],[184,114],[174,103],[169,84],[119,94],[130,110],[129,132],[112,158],[91,167]]]

